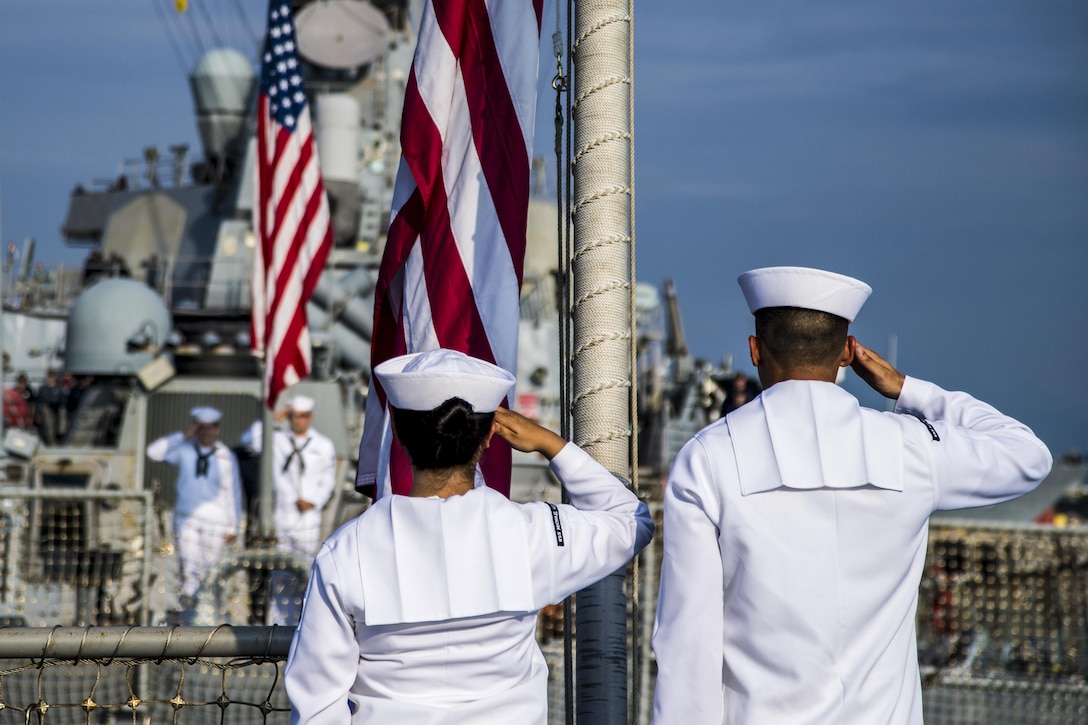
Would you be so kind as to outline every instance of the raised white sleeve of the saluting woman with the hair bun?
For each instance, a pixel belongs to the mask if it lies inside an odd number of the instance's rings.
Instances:
[[[646,504],[585,451],[568,443],[551,466],[570,505],[524,506],[537,609],[611,574],[654,536]]]

